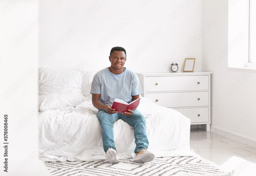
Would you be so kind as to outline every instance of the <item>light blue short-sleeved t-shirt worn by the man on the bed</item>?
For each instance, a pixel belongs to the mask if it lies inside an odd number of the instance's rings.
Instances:
[[[138,76],[125,68],[121,74],[113,74],[108,67],[95,74],[92,80],[91,94],[101,94],[103,105],[112,105],[115,98],[132,102],[132,96],[142,94]]]

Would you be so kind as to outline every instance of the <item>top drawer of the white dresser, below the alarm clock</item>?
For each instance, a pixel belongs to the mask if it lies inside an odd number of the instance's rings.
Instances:
[[[145,77],[146,92],[209,90],[209,76]]]

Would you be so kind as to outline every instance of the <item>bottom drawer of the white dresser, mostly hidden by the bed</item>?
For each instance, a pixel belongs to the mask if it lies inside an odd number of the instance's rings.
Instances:
[[[180,108],[175,110],[189,118],[191,123],[209,122],[209,108]]]

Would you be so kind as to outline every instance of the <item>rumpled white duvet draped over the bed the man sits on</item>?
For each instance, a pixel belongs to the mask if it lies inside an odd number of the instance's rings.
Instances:
[[[194,156],[189,146],[190,119],[144,97],[137,109],[145,117],[148,150],[156,157]],[[40,112],[39,157],[43,161],[106,159],[97,112],[90,96],[75,107],[59,107]],[[133,127],[118,120],[113,130],[118,158],[134,157]]]

